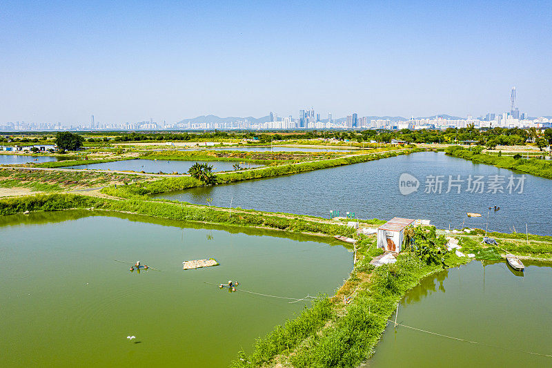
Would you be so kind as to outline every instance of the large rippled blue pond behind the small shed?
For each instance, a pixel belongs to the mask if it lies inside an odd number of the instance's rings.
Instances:
[[[417,183],[417,189],[400,188],[403,174],[406,174],[403,182]],[[474,188],[477,177],[481,177],[483,186]],[[514,184],[511,193],[509,177],[513,177]],[[502,184],[493,186],[495,179],[502,180]],[[522,185],[518,186],[520,182]],[[412,188],[415,190],[408,192]],[[197,204],[204,204],[206,198],[212,197],[215,206],[228,207],[232,201],[232,206],[243,209],[321,217],[329,217],[330,211],[339,210],[342,216],[349,211],[360,218],[422,218],[441,229],[449,226],[485,229],[491,207],[489,230],[525,232],[527,224],[529,233],[552,235],[550,193],[552,180],[549,179],[474,164],[444,153],[422,152],[297,175],[191,188],[157,197]],[[494,211],[495,206],[500,210]],[[466,217],[468,212],[482,216]]]

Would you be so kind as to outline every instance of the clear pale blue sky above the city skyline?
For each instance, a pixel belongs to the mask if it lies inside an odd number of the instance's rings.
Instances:
[[[552,1],[0,0],[0,122],[552,115]]]

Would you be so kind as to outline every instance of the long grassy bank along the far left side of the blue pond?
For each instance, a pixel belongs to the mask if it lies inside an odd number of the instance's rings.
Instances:
[[[397,155],[405,155],[417,151],[418,149],[383,152],[375,154],[354,155],[349,157],[340,157],[337,159],[326,159],[315,162],[302,162],[299,164],[287,164],[279,166],[270,166],[267,168],[254,168],[252,170],[237,171],[235,173],[217,174],[219,184],[239,182],[242,180],[260,179],[262,177],[273,177],[278,175],[290,175],[296,173],[304,173],[306,171],[318,170],[321,168],[331,168],[335,166],[343,166],[348,164],[356,164],[359,162],[372,161],[385,157],[394,157]],[[102,193],[115,197],[124,198],[139,198],[144,195],[164,193],[170,191],[181,191],[188,188],[203,186],[204,184],[193,177],[168,177],[155,182],[144,182],[126,186],[118,186],[117,188],[103,188]]]

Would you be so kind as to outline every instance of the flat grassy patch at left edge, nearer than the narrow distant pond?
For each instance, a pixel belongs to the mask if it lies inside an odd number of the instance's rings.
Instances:
[[[30,188],[32,191],[68,191],[113,184],[139,182],[148,177],[109,171],[46,171],[26,168],[0,168],[0,187]]]

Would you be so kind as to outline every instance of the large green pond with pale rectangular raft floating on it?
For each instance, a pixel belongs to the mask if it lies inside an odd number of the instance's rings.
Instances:
[[[310,306],[240,290],[333,294],[353,263],[323,238],[97,211],[0,217],[0,239],[2,367],[226,367]]]

